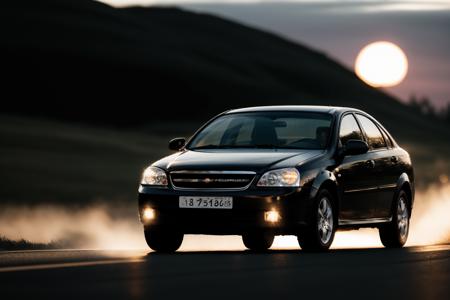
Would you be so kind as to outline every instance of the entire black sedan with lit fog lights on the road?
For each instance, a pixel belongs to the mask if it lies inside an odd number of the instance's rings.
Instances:
[[[255,251],[276,235],[326,250],[339,229],[376,227],[386,247],[408,237],[414,174],[408,153],[367,113],[265,106],[224,112],[148,167],[139,213],[150,248],[184,234],[242,235]]]

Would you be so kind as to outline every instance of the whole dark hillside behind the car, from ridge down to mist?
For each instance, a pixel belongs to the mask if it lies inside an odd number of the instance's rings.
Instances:
[[[23,0],[2,4],[0,33],[2,203],[134,199],[139,173],[167,153],[169,137],[252,105],[363,109],[412,153],[420,182],[449,174],[443,123],[323,53],[232,21]]]

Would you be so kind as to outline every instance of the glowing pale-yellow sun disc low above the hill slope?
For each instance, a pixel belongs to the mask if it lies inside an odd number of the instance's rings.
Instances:
[[[355,72],[373,87],[395,86],[403,81],[408,72],[408,59],[399,46],[390,42],[375,42],[359,52]]]

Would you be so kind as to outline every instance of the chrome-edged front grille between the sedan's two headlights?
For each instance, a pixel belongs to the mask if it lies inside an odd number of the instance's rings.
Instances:
[[[179,189],[245,189],[255,178],[250,171],[174,171],[170,180]]]

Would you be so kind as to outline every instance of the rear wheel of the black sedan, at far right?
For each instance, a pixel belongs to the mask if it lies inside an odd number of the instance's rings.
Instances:
[[[401,248],[409,234],[409,197],[401,190],[392,206],[392,221],[379,227],[381,243],[386,248]]]

